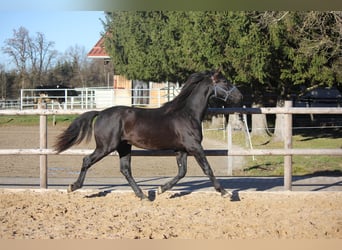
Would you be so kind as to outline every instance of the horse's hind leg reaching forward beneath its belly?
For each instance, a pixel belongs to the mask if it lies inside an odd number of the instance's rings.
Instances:
[[[132,177],[131,148],[132,145],[127,143],[121,143],[117,149],[120,156],[120,172],[126,177],[126,180],[133,189],[135,195],[138,196],[140,199],[147,199],[147,196],[143,193],[141,188],[138,186],[138,184]]]

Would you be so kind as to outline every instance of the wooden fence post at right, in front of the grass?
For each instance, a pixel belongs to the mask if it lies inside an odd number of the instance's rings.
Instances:
[[[285,108],[292,108],[292,101],[285,101]],[[284,149],[292,149],[292,114],[285,114]],[[284,189],[292,190],[292,155],[284,156]]]

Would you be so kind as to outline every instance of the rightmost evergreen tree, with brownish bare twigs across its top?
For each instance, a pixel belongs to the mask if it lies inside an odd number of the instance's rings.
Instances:
[[[300,89],[341,83],[341,12],[266,12],[264,18],[278,106]],[[277,115],[274,140],[283,140],[282,120]]]

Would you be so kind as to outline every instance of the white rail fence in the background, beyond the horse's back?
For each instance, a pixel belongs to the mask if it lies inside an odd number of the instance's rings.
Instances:
[[[71,95],[75,90],[77,95]],[[20,99],[11,102],[17,109],[37,109],[41,102],[47,109],[102,109],[115,105],[156,108],[172,100],[179,88],[113,89],[107,87],[75,89],[21,89]],[[45,94],[41,94],[45,93]],[[18,103],[20,101],[20,103]]]

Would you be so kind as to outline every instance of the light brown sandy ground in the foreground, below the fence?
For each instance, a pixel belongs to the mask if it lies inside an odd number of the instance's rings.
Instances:
[[[341,239],[340,192],[0,190],[1,239]]]

